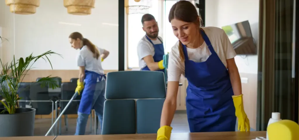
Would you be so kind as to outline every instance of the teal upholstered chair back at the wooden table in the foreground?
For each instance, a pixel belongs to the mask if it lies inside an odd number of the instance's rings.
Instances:
[[[164,73],[109,72],[102,134],[157,133],[166,97]]]

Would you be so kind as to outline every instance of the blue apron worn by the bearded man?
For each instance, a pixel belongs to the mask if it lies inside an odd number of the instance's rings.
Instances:
[[[145,35],[147,37],[147,35]],[[158,38],[159,41],[161,41],[160,38]],[[152,43],[152,41],[149,39],[149,37],[147,37],[147,40]],[[164,46],[163,46],[163,42],[161,41],[161,44],[154,44],[152,43],[152,45],[154,46],[155,49],[155,55],[153,56],[154,58],[154,62],[159,62],[161,60],[163,60],[163,55],[164,55]],[[142,71],[150,71],[148,66],[145,66],[144,68],[141,69]],[[164,69],[159,69],[157,71],[162,71],[164,72]]]

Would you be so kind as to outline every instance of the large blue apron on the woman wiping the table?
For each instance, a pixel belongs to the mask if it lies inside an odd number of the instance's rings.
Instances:
[[[237,117],[228,70],[201,30],[211,55],[205,62],[189,60],[186,46],[185,76],[188,80],[186,108],[190,132],[235,131]]]

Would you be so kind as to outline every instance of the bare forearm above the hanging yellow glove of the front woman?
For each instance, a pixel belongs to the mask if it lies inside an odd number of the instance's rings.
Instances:
[[[242,85],[241,85],[241,78],[238,69],[229,71],[229,77],[231,80],[231,86],[233,88],[234,95],[241,95]]]

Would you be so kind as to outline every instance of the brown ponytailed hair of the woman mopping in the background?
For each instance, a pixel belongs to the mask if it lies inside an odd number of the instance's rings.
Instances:
[[[83,35],[80,32],[73,32],[71,33],[70,36],[68,36],[68,38],[71,39],[77,39],[79,38],[81,41],[83,41],[83,46],[86,45],[87,48],[93,53],[93,57],[96,58],[97,60],[100,57],[100,51],[99,49],[97,49],[97,47],[91,43],[91,41],[89,41],[87,38],[83,38]]]

